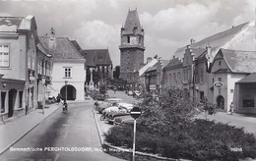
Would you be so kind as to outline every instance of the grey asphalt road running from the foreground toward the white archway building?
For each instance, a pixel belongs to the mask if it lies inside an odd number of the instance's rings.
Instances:
[[[26,124],[26,123],[25,123]],[[0,156],[1,161],[118,161],[102,152],[92,104],[59,108]]]

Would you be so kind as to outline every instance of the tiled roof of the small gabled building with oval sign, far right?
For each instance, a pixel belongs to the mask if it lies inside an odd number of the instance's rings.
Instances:
[[[224,60],[233,73],[255,73],[256,51],[221,49]]]

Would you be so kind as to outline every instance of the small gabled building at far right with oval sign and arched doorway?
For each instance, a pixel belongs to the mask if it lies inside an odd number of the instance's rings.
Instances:
[[[214,75],[214,104],[225,112],[233,102],[238,113],[256,113],[255,80],[256,51],[220,49],[216,55]]]

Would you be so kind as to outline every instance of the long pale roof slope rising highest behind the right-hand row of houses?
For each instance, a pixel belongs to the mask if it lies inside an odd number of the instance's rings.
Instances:
[[[201,48],[205,49],[206,46],[210,45],[212,48],[212,51],[219,49],[222,47],[226,42],[228,42],[232,37],[234,37],[239,31],[242,30],[243,27],[247,26],[249,23],[245,23],[242,25],[239,25],[237,27],[231,27],[229,29],[226,29],[222,32],[219,32],[217,34],[211,35],[209,37],[206,37],[205,39],[202,39],[201,41],[192,43],[190,45],[191,48]],[[181,56],[184,54],[186,49],[185,47],[179,48],[176,50],[175,55]]]

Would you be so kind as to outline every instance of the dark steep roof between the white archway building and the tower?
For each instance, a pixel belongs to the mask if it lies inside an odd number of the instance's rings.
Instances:
[[[108,49],[82,50],[82,55],[86,58],[86,66],[107,66],[112,65]]]

